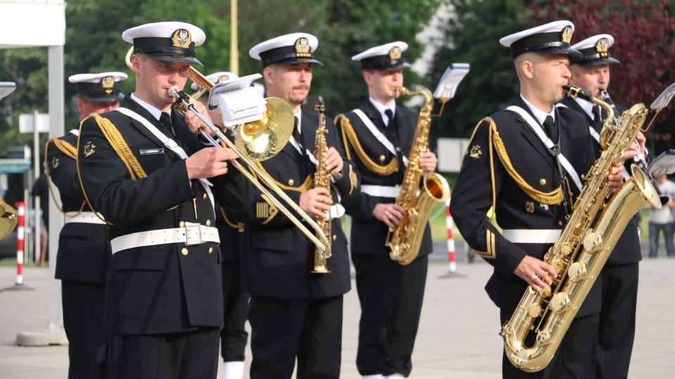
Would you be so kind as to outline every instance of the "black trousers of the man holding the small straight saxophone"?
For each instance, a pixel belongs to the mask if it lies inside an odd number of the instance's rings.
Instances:
[[[316,300],[252,296],[251,379],[340,378],[342,295]]]

